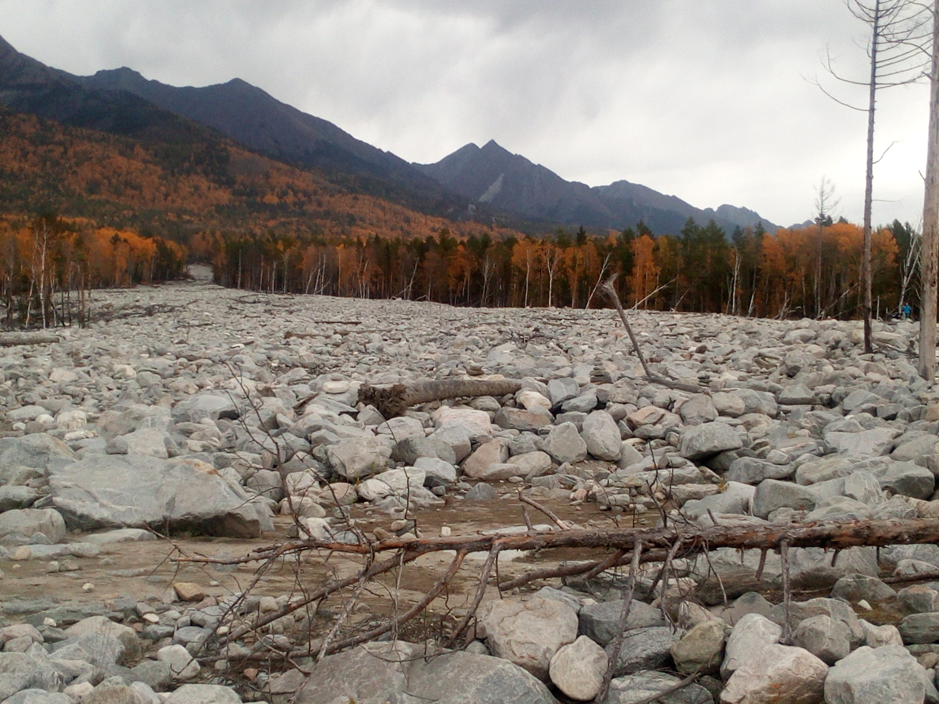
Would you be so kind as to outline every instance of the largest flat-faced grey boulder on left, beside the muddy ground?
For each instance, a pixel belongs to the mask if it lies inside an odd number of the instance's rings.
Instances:
[[[100,455],[50,470],[55,508],[69,528],[183,528],[254,538],[251,497],[194,459]]]

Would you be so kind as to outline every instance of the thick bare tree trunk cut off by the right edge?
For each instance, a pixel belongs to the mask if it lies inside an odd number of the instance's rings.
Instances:
[[[932,69],[930,78],[930,136],[923,201],[923,239],[920,249],[919,375],[928,383],[936,372],[936,268],[939,259],[939,0],[932,6]]]

